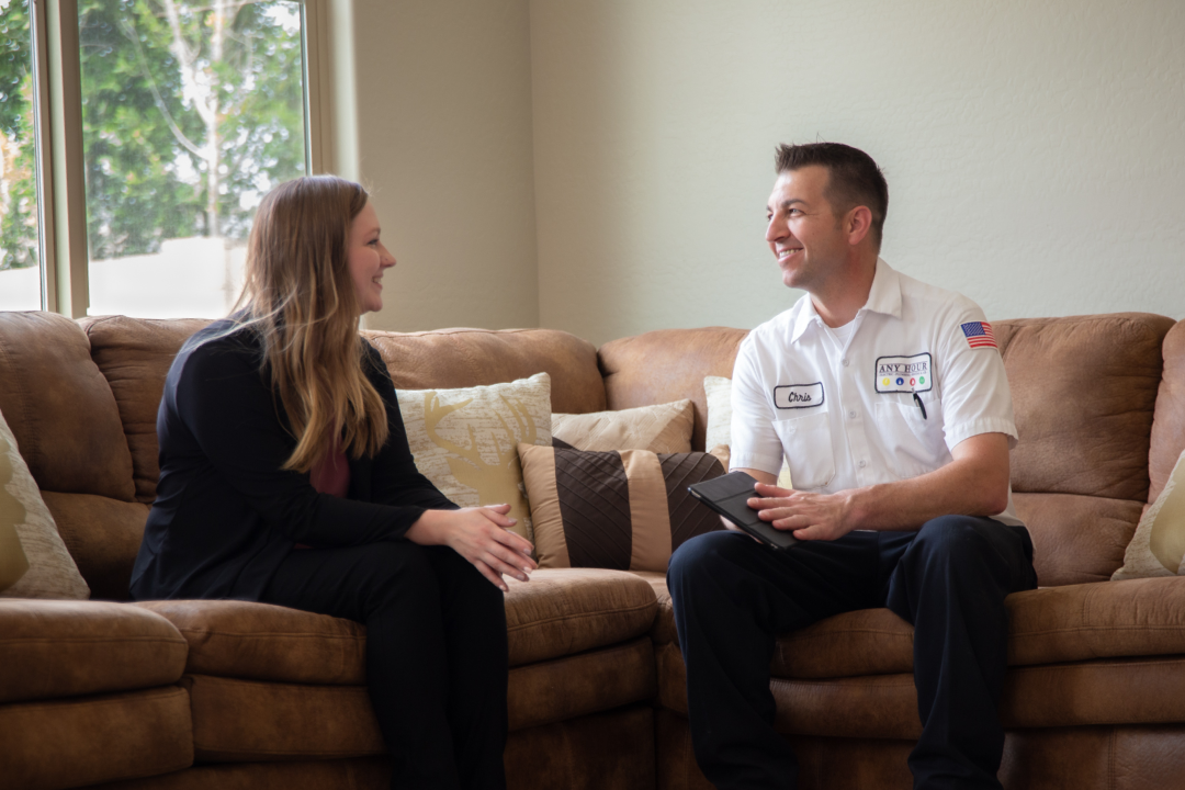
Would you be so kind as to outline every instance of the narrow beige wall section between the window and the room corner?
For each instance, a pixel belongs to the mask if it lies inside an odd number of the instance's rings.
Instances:
[[[337,99],[357,117],[339,166],[398,261],[367,326],[538,326],[527,0],[342,1],[354,92]]]

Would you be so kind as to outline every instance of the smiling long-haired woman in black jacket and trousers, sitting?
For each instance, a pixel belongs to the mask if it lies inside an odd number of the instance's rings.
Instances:
[[[256,213],[237,309],[191,338],[156,417],[160,482],[135,599],[238,598],[366,625],[392,786],[502,788],[506,505],[457,508],[416,470],[358,334],[395,258],[366,192],[288,181]]]

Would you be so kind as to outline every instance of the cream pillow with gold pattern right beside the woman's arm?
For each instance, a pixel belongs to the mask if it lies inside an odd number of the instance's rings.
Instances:
[[[551,378],[397,394],[421,474],[461,507],[507,502],[514,532],[531,540],[518,445],[551,444]]]

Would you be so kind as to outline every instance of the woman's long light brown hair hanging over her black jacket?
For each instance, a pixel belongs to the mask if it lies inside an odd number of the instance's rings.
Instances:
[[[335,437],[354,458],[386,442],[348,266],[350,227],[366,200],[352,181],[309,175],[269,192],[255,214],[236,311],[262,339],[263,370],[296,438],[284,469],[308,471]]]

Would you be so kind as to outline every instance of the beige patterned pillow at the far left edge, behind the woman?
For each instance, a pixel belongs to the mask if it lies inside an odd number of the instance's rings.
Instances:
[[[15,542],[15,546],[13,544]],[[20,557],[18,557],[18,553]],[[25,565],[27,570],[21,571]],[[18,572],[19,571],[19,572]],[[17,439],[0,415],[0,577],[11,598],[90,597],[90,587],[66,551],[41,501],[28,465],[17,451]]]

